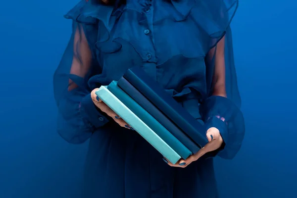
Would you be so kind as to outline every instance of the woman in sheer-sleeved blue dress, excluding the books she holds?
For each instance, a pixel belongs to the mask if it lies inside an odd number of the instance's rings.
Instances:
[[[237,0],[82,0],[54,74],[58,132],[90,139],[84,198],[216,198],[213,157],[233,158],[244,137],[230,21]],[[207,126],[209,143],[168,163],[94,94],[141,66]],[[205,134],[204,134],[205,135]]]

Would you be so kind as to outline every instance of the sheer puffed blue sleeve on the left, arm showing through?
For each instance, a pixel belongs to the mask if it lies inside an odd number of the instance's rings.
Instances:
[[[85,142],[92,132],[108,122],[90,95],[88,80],[100,73],[100,67],[88,44],[84,25],[73,22],[71,39],[53,77],[57,130],[72,144]]]

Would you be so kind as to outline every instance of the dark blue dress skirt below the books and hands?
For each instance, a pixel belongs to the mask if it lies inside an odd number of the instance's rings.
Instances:
[[[110,122],[93,133],[84,198],[217,198],[213,158],[171,167],[137,132]]]

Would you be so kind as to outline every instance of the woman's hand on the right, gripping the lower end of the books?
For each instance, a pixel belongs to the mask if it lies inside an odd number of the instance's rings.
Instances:
[[[165,158],[164,158],[164,161],[168,162],[169,166],[185,168],[193,161],[198,160],[205,153],[216,150],[220,148],[223,144],[223,138],[217,128],[214,128],[214,127],[209,128],[206,132],[206,137],[207,137],[208,143],[203,148],[201,148],[196,154],[191,155],[186,160],[181,159],[176,164],[170,163]]]

